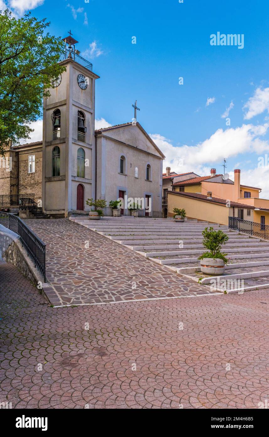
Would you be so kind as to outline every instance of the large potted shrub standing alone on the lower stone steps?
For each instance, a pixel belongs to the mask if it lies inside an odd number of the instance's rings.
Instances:
[[[205,252],[198,258],[201,264],[201,272],[210,275],[224,274],[225,264],[228,263],[225,256],[227,253],[221,252],[221,246],[227,243],[229,237],[221,230],[215,231],[212,227],[205,228],[202,232],[204,237],[203,245],[208,252]]]

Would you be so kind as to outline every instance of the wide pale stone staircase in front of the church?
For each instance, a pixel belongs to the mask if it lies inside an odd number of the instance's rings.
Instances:
[[[170,270],[211,285],[216,291],[269,288],[269,242],[232,231],[226,225],[197,220],[175,223],[170,218],[140,217],[104,217],[99,221],[70,217],[70,220]],[[223,249],[228,265],[225,274],[219,277],[202,274],[197,259],[205,251],[202,231],[207,226],[221,229],[229,236]]]

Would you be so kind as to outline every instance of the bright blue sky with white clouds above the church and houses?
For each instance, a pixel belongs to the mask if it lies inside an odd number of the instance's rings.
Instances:
[[[137,119],[167,156],[164,167],[200,175],[215,167],[222,173],[225,157],[228,172],[240,168],[243,183],[262,186],[262,197],[269,196],[268,166],[258,167],[258,158],[269,153],[268,1],[6,4],[15,14],[31,10],[37,18],[47,17],[55,35],[65,37],[71,29],[100,76],[99,127],[131,121],[137,99]],[[243,34],[244,48],[211,45],[210,35],[218,31]]]

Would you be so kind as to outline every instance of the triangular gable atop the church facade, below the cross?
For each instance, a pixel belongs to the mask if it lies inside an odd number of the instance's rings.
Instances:
[[[142,149],[147,153],[152,153],[160,158],[164,158],[163,153],[158,149],[156,144],[139,123],[136,125],[128,123],[126,125],[100,129],[95,133],[102,133],[102,135],[106,135],[125,144],[137,147],[137,149]]]

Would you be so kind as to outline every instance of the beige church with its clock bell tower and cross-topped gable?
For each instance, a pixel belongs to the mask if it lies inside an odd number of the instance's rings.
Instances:
[[[4,146],[0,168],[0,208],[31,199],[42,214],[68,217],[91,210],[88,198],[107,201],[144,199],[139,215],[162,216],[165,156],[136,121],[95,131],[95,80],[92,64],[64,38],[61,65],[66,71],[44,99],[43,139]],[[137,108],[135,108],[136,111]],[[135,112],[136,114],[136,112]],[[27,197],[28,196],[28,197]],[[148,205],[151,205],[150,208]],[[122,215],[130,215],[124,205]]]

